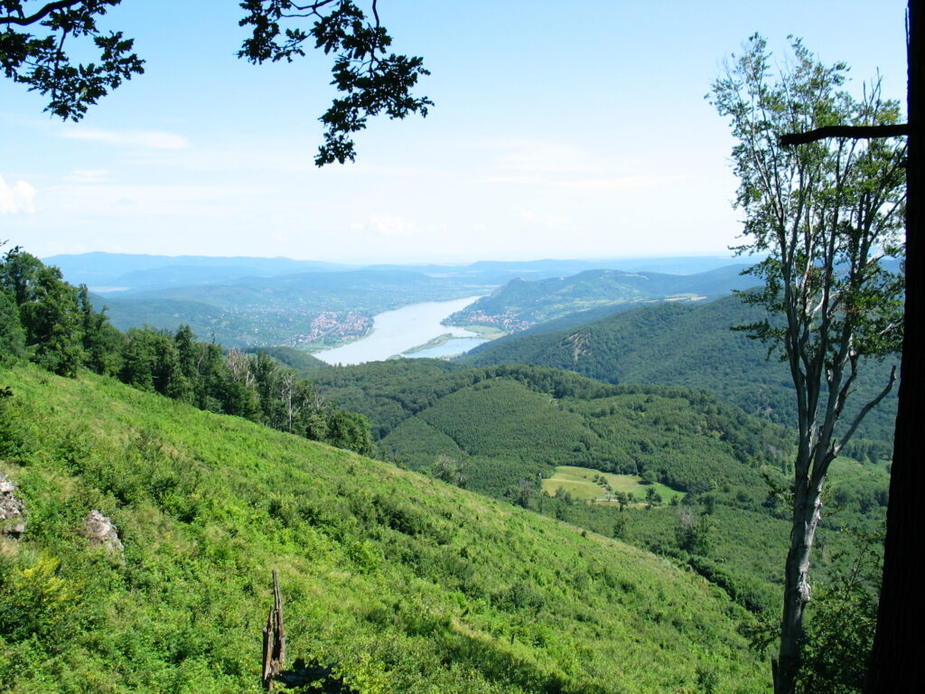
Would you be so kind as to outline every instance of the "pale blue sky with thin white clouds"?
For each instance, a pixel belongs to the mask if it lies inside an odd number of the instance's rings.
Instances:
[[[31,3],[37,4],[37,3]],[[363,2],[361,0],[361,5]],[[367,5],[368,6],[368,5]],[[379,0],[424,56],[427,118],[376,118],[314,167],[330,61],[252,66],[237,0],[123,0],[145,74],[79,123],[0,79],[0,239],[343,263],[728,254],[728,125],[704,98],[748,36],[906,92],[901,0]]]

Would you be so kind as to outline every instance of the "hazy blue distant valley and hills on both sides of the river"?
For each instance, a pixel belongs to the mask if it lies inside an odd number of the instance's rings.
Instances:
[[[496,338],[588,309],[701,300],[747,285],[741,266],[707,257],[367,267],[102,253],[46,260],[72,283],[87,284],[94,306],[105,306],[117,328],[190,325],[228,347],[309,352],[361,339],[377,314],[424,302],[483,296],[446,323]]]

